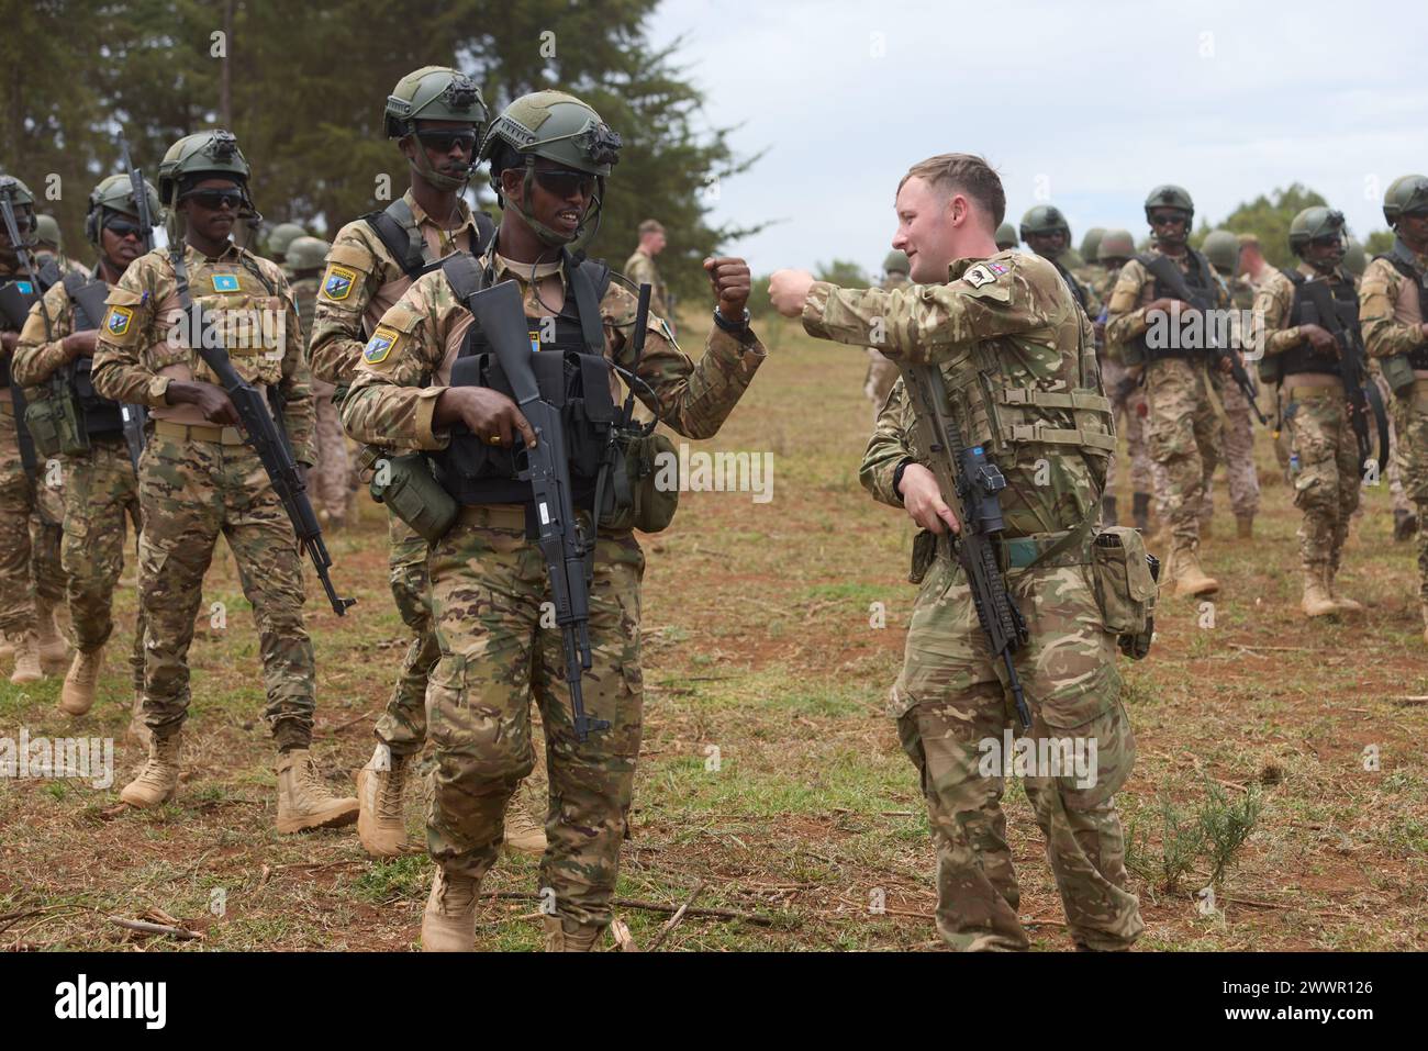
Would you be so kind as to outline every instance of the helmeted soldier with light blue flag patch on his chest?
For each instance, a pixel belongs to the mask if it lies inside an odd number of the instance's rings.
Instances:
[[[218,340],[238,376],[267,394],[293,458],[310,466],[313,397],[297,306],[276,263],[228,240],[238,216],[257,211],[248,163],[228,131],[200,131],[169,147],[159,193],[170,247],[137,258],[110,291],[93,373],[101,396],[147,406],[154,420],[139,466],[143,711],[153,740],[149,763],[120,798],[157,807],[178,791],[188,645],[221,534],[257,621],[266,717],[278,748],[277,830],[350,824],[357,800],[334,798],[310,753],[313,644],[291,521],[237,428],[237,410],[191,348],[194,333],[176,331],[187,288],[207,316],[197,336]]]

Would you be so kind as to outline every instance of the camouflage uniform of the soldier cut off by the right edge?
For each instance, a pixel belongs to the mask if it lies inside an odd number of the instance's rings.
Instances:
[[[1417,256],[1414,263],[1419,273],[1428,270],[1428,256]],[[1364,347],[1372,357],[1425,354],[1422,323],[1428,311],[1417,286],[1387,258],[1375,258],[1365,267],[1358,303]],[[1391,394],[1385,401],[1398,440],[1394,451],[1398,478],[1418,511],[1418,593],[1428,627],[1428,370],[1414,371],[1418,378],[1412,390],[1405,397]]]

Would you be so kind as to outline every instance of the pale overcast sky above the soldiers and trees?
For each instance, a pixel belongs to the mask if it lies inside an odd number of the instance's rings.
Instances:
[[[781,220],[727,248],[755,273],[835,257],[877,273],[910,164],[965,150],[1001,173],[1014,223],[1058,206],[1145,233],[1180,183],[1195,223],[1299,181],[1361,237],[1382,187],[1428,171],[1428,4],[790,3],[665,0],[651,39],[711,126],[765,150],[713,201],[717,221]]]

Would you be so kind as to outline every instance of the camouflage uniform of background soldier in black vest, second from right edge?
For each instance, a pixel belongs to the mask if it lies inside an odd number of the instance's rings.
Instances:
[[[1315,280],[1319,273],[1299,263],[1298,273]],[[1341,271],[1334,284],[1354,278]],[[1278,270],[1269,271],[1255,293],[1254,308],[1264,317],[1264,353],[1284,354],[1305,340],[1291,324],[1294,283]],[[1348,418],[1344,384],[1329,387],[1322,380],[1302,383],[1289,373],[1279,383],[1284,427],[1289,448],[1299,457],[1292,477],[1294,506],[1304,520],[1299,524],[1299,563],[1308,574],[1338,571],[1348,524],[1358,508],[1358,438]]]

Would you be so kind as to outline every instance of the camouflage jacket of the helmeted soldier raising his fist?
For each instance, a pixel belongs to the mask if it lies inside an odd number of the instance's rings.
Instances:
[[[511,264],[494,254],[494,248],[486,253],[481,264],[494,267],[493,281],[517,281],[528,317],[548,317],[554,313],[537,298],[528,284],[528,264]],[[543,286],[545,300],[564,301],[565,276],[558,261],[537,267],[536,278]],[[604,321],[605,353],[617,364],[628,367],[633,354],[628,331],[635,314],[634,294],[613,281],[600,301],[600,314]],[[358,441],[381,447],[431,451],[446,448],[450,434],[434,431],[431,417],[471,324],[471,313],[457,300],[446,273],[434,270],[417,280],[383,316],[377,333],[363,351],[351,390],[341,406],[347,433]],[[764,347],[753,331],[745,331],[738,338],[714,327],[704,356],[694,364],[667,333],[664,321],[651,314],[638,376],[653,388],[654,397],[643,384],[635,393],[651,411],[658,413],[663,423],[680,434],[711,437],[763,364]],[[428,380],[430,386],[423,386]]]

